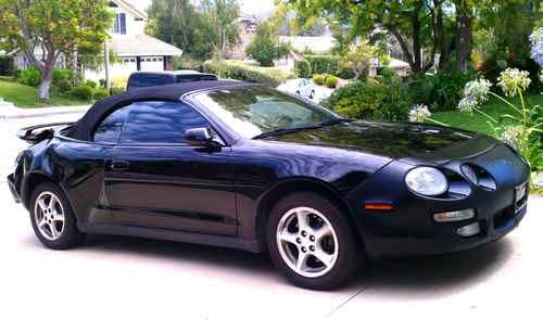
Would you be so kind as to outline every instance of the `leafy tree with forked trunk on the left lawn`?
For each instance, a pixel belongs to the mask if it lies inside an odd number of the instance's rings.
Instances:
[[[111,22],[105,0],[0,0],[2,44],[21,50],[40,72],[40,100],[49,99],[59,56],[99,50]]]

